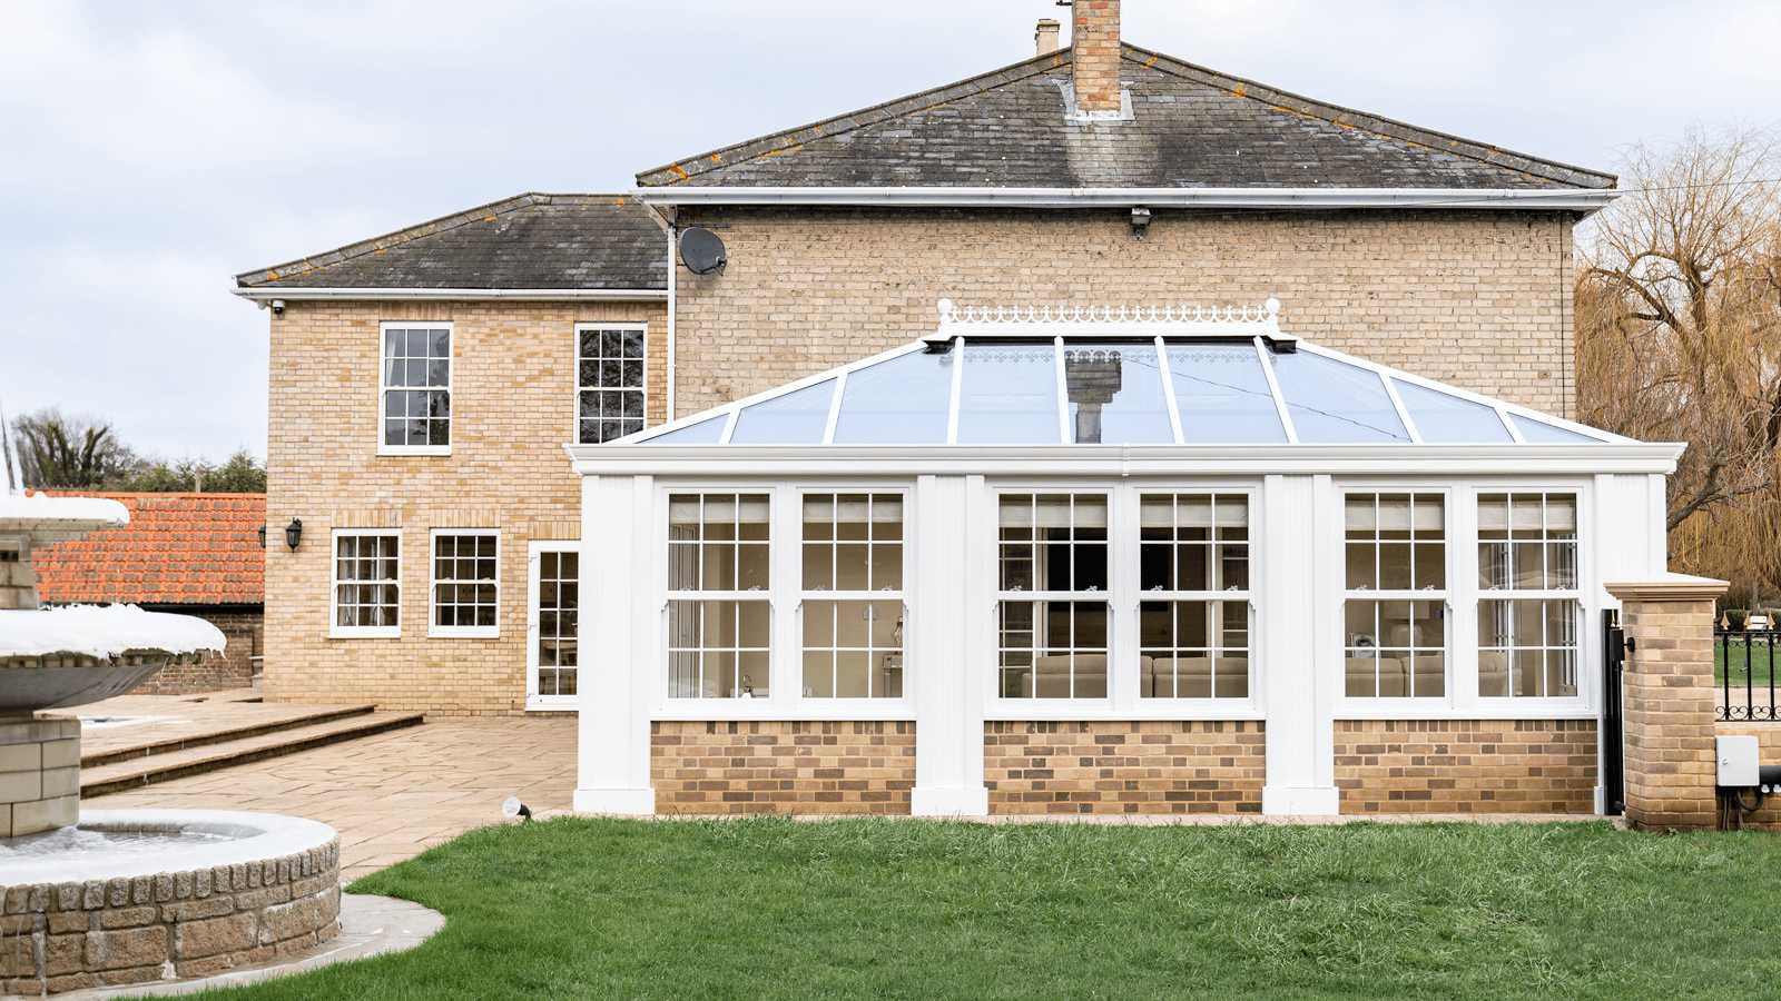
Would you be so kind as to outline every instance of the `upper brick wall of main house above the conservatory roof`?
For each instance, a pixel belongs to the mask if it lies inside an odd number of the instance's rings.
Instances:
[[[679,415],[908,344],[935,303],[1282,303],[1284,330],[1535,410],[1571,413],[1571,221],[1523,212],[1129,208],[682,210],[721,274],[680,271]]]

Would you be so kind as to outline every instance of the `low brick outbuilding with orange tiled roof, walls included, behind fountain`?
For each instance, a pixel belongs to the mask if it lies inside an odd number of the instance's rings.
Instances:
[[[221,657],[171,664],[137,686],[137,695],[221,691],[253,680],[265,627],[265,554],[256,538],[264,495],[46,493],[109,497],[130,511],[130,524],[39,550],[39,600],[192,614],[228,639]]]

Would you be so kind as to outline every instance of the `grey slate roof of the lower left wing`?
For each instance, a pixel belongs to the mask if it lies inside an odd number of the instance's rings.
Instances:
[[[668,240],[623,194],[522,194],[237,274],[242,289],[666,289]]]

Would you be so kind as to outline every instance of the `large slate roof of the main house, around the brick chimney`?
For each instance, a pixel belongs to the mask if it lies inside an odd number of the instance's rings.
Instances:
[[[1133,119],[1076,123],[1060,50],[714,150],[639,187],[1608,189],[1614,175],[1510,153],[1124,45]]]

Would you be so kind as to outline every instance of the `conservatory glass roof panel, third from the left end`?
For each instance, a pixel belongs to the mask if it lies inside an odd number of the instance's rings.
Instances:
[[[944,445],[953,356],[921,351],[848,372],[837,445]]]

